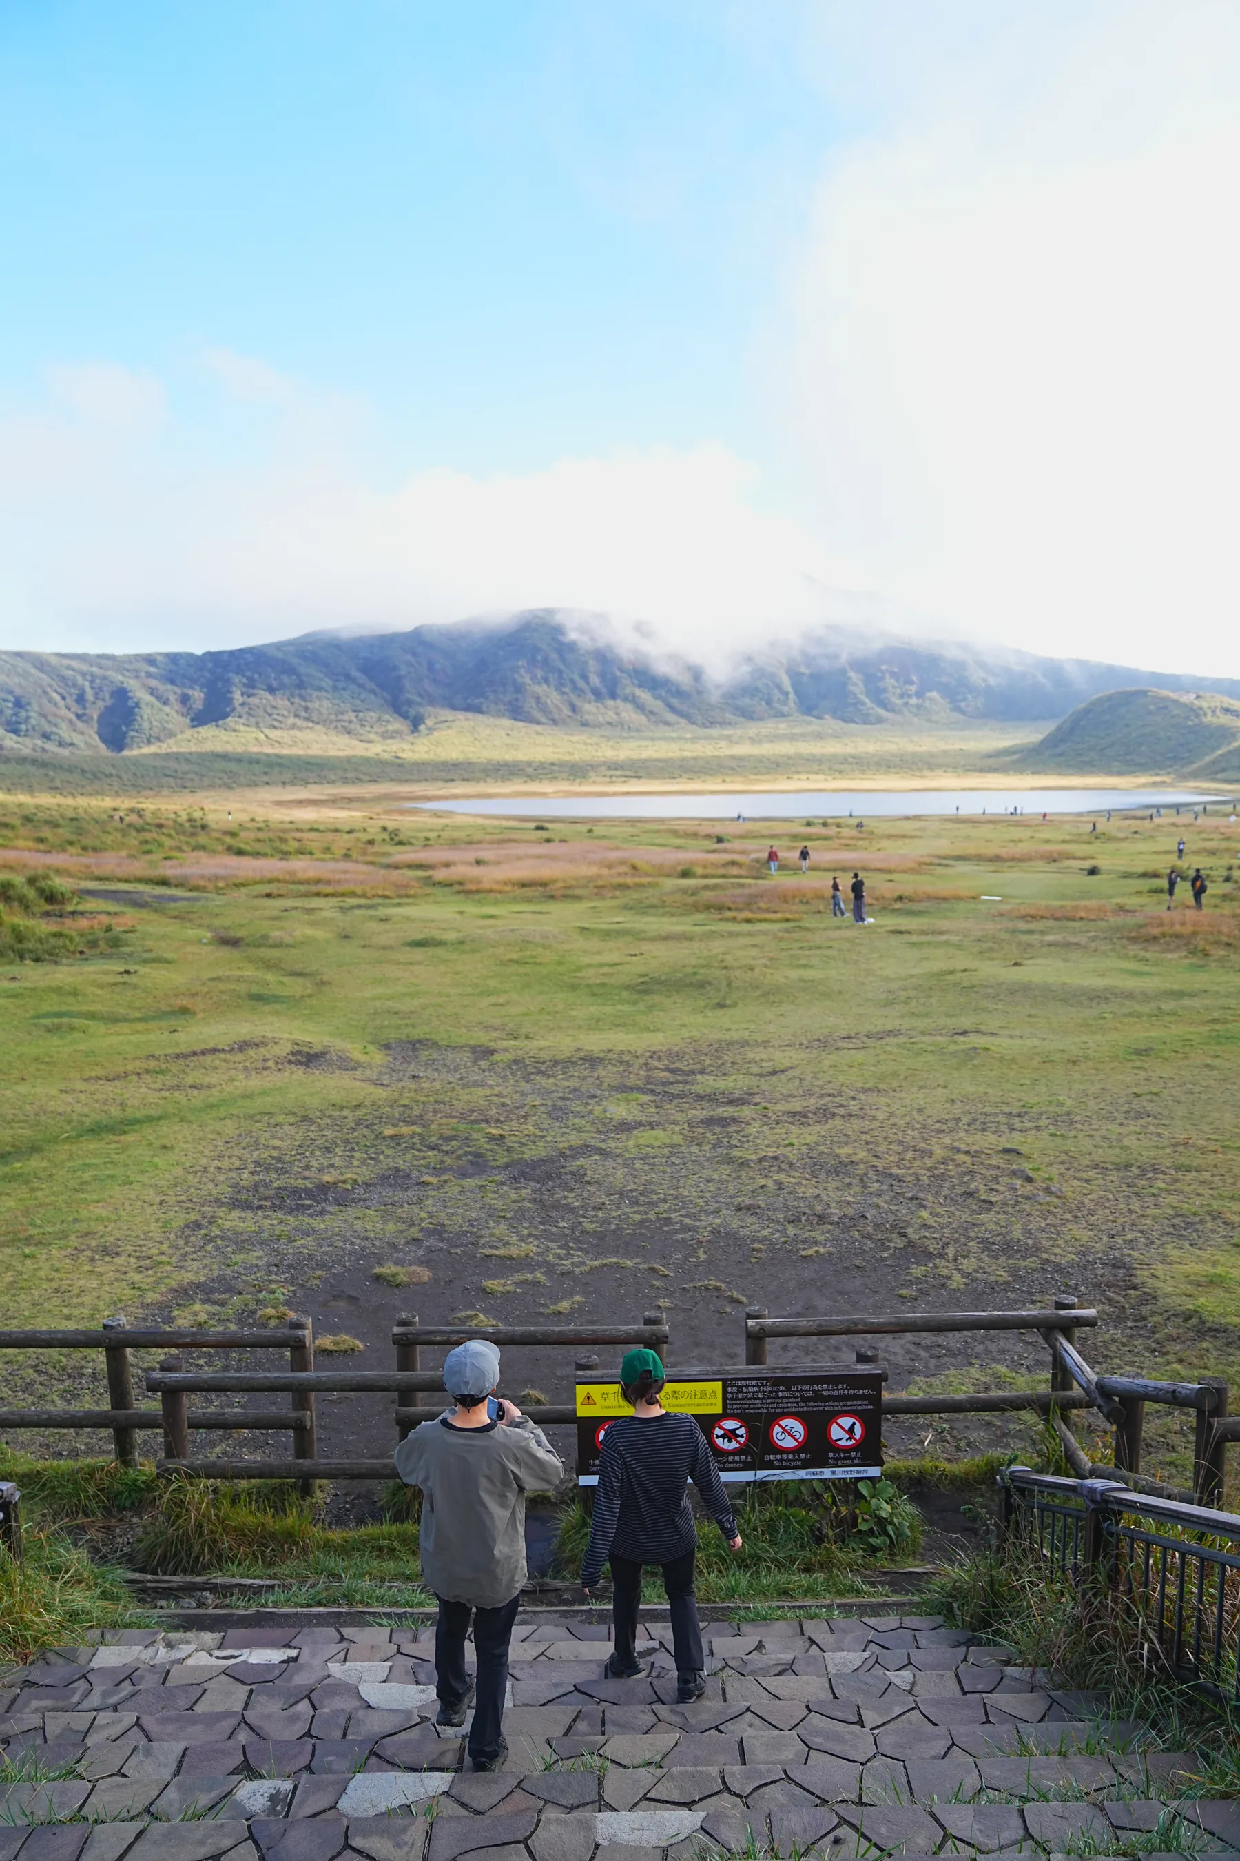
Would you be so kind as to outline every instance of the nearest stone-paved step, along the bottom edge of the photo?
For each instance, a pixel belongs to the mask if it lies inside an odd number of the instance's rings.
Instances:
[[[584,1785],[593,1785],[586,1788]],[[493,1788],[470,1788],[493,1787]],[[610,1809],[599,1779],[574,1772],[530,1777],[431,1777],[418,1774],[359,1775],[335,1787],[336,1801],[297,1814],[299,1788],[257,1779],[219,1796],[208,1788],[195,1801],[151,1805],[167,1820],[115,1814],[69,1820],[71,1796],[32,1792],[0,1824],[0,1861],[216,1861],[236,1855],[279,1861],[457,1861],[459,1855],[504,1861],[591,1861],[615,1848],[623,1861],[634,1850],[666,1854],[669,1861],[697,1861],[719,1852],[766,1850],[781,1855],[818,1854],[824,1861],[881,1854],[1062,1854],[1123,1852],[1132,1841],[1158,1837],[1175,1854],[1234,1855],[1240,1842],[1240,1805],[1164,1805],[1125,1801],[1039,1803],[824,1803],[798,1792],[781,1794],[762,1783],[747,1801],[716,1796],[705,1803],[667,1801],[653,1792],[630,1809]],[[286,1798],[292,1798],[288,1801]],[[37,1820],[58,1811],[61,1820]],[[617,1857],[619,1861],[619,1857]]]

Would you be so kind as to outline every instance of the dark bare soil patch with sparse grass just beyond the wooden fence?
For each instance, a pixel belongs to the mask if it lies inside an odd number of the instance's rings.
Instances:
[[[387,1368],[405,1312],[532,1325],[638,1323],[662,1310],[667,1360],[688,1368],[744,1362],[747,1305],[772,1316],[1045,1308],[1067,1280],[1104,1308],[1104,1329],[1082,1336],[1099,1368],[1143,1368],[1154,1325],[1166,1349],[1166,1321],[1134,1279],[1128,1236],[1145,1217],[1115,1200],[1114,1180],[1073,1184],[1067,1200],[1036,1180],[1022,1152],[1037,1131],[1028,1109],[996,1109],[980,1131],[952,1126],[950,1109],[941,1124],[933,1107],[892,1128],[889,1100],[835,1087],[822,1050],[755,1064],[751,1046],[558,1061],[394,1046],[348,1109],[257,1128],[232,1154],[214,1206],[186,1228],[218,1267],[178,1316],[309,1314],[322,1368]],[[357,1074],[331,1048],[299,1063]],[[405,1269],[415,1284],[376,1269]],[[359,1347],[331,1355],[331,1338]],[[1047,1379],[1036,1334],[877,1342],[892,1390]],[[506,1351],[504,1388],[567,1401],[573,1357]],[[602,1373],[619,1360],[599,1357]],[[424,1353],[426,1368],[441,1360]],[[853,1347],[773,1342],[770,1360],[851,1362]],[[100,1399],[99,1366],[65,1375],[78,1399]],[[387,1396],[320,1396],[320,1453],[387,1453],[390,1411]],[[288,1452],[283,1435],[197,1440],[212,1453]],[[889,1422],[885,1446],[956,1459],[1034,1452],[1036,1440],[1024,1416],[909,1418]],[[569,1452],[567,1431],[558,1444]]]

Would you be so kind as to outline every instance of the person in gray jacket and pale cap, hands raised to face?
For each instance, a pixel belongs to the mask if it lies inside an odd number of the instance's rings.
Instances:
[[[396,1472],[422,1487],[422,1576],[439,1599],[435,1692],[439,1723],[463,1725],[470,1701],[474,1770],[498,1770],[508,1645],[526,1580],[526,1493],[545,1493],[563,1463],[517,1403],[495,1401],[500,1353],[485,1338],[448,1351],[444,1388],[455,1409],[402,1440]],[[478,1684],[465,1671],[474,1623]]]

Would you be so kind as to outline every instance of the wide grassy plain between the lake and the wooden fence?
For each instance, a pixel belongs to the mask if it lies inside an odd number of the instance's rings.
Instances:
[[[7,1323],[292,1308],[385,1364],[411,1303],[511,1323],[658,1305],[673,1359],[706,1362],[738,1359],[751,1301],[1024,1305],[1071,1282],[1102,1308],[1101,1366],[1240,1372],[1225,819],[788,823],[772,880],[759,826],[548,834],[344,791],[232,811],[0,806],[4,869],[86,888],[82,923],[117,945],[0,966]],[[1166,910],[1181,826],[1203,916]],[[853,867],[866,929],[831,917]],[[887,1355],[892,1386],[1045,1381],[1037,1340]],[[515,1394],[567,1390],[515,1362]],[[102,1394],[93,1355],[6,1377]],[[383,1405],[323,1403],[329,1452],[376,1429]]]

